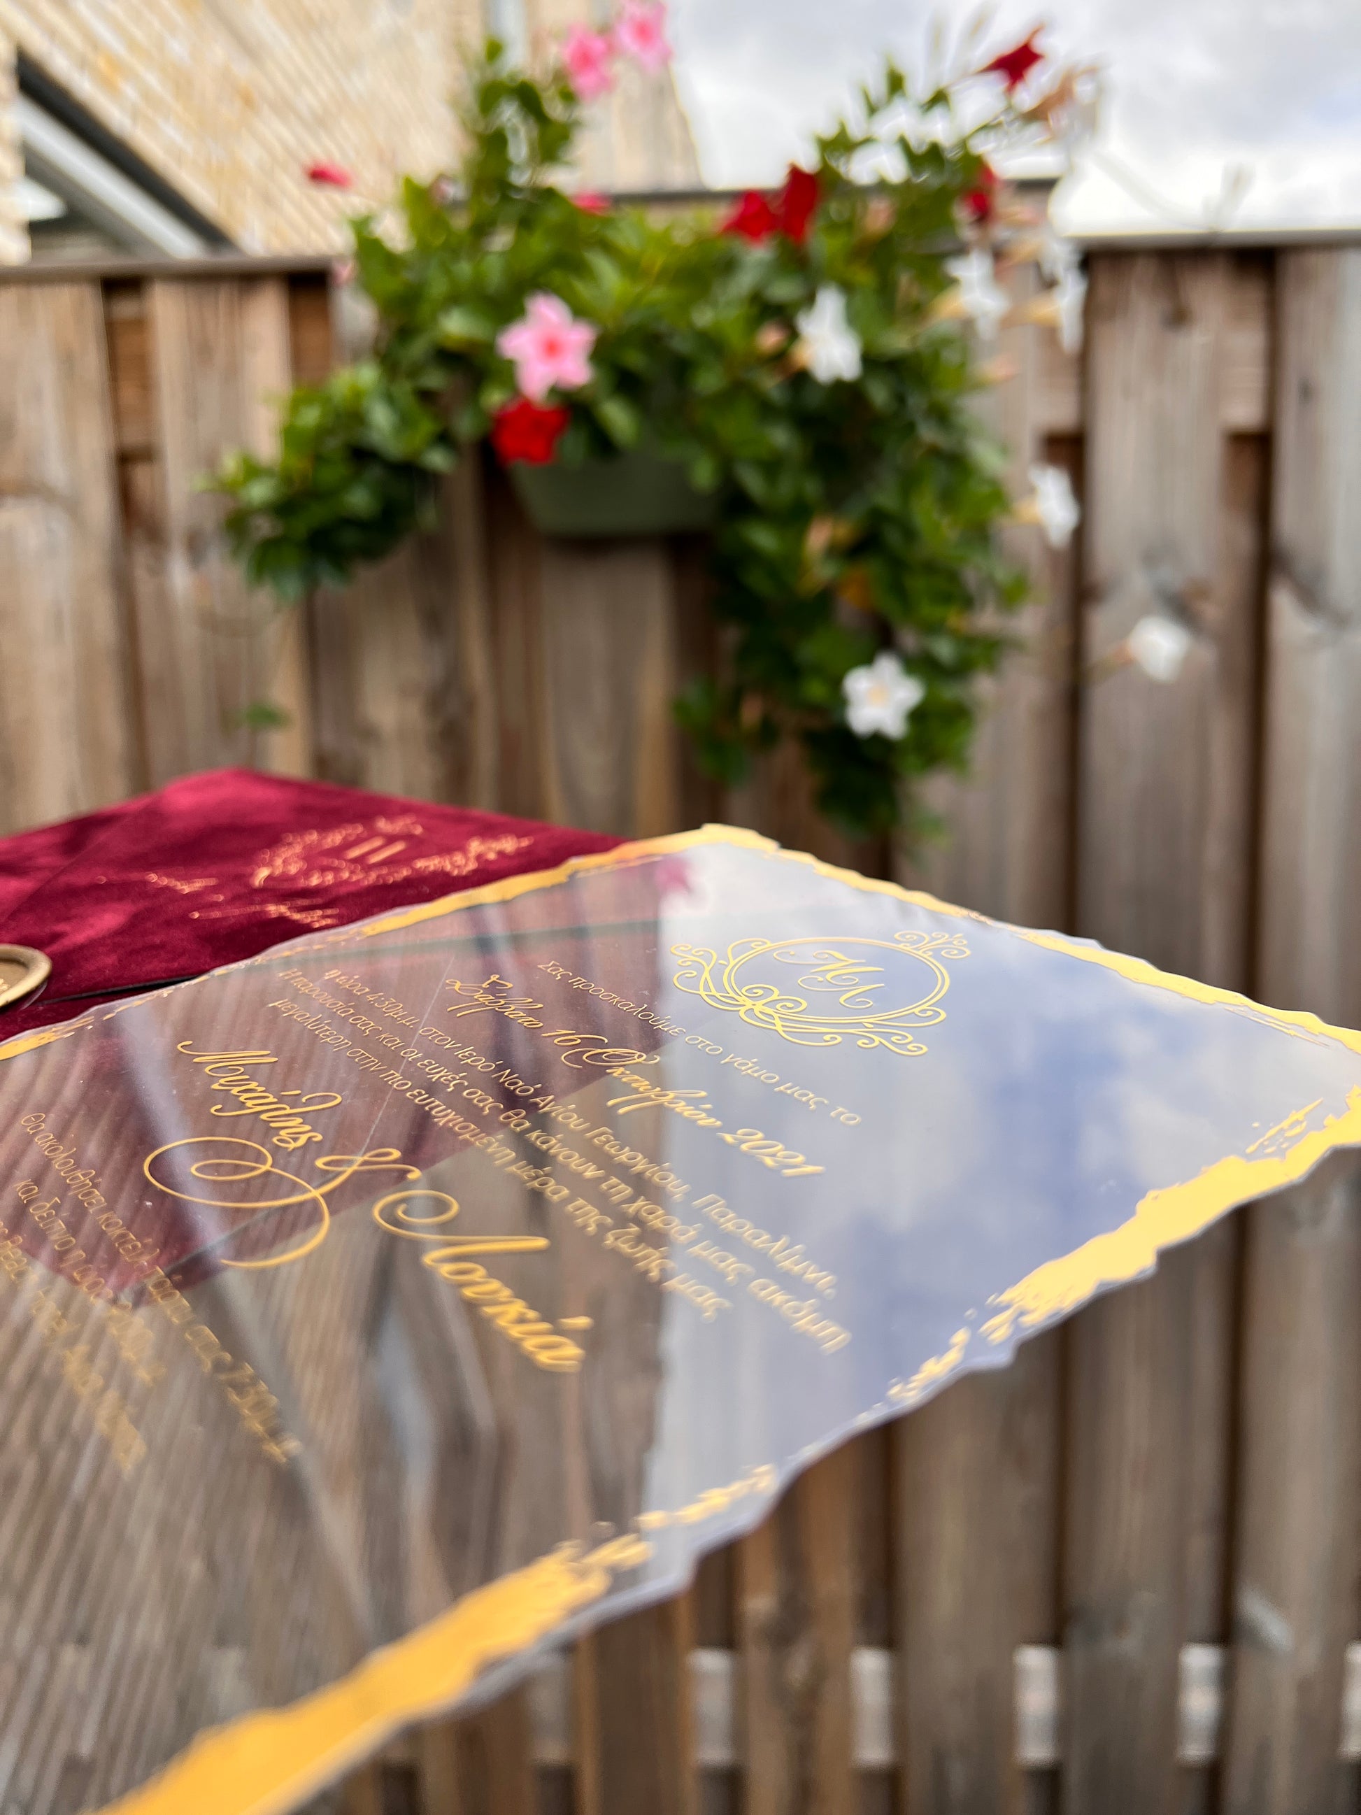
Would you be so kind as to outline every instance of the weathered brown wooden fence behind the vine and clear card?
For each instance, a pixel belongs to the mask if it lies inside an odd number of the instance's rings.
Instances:
[[[198,474],[336,356],[318,265],[0,280],[0,826],[220,762],[653,833],[722,817],[1361,1024],[1361,247],[1100,247],[1087,347],[1007,330],[1034,532],[945,842],[847,848],[668,699],[702,548],[552,544],[492,470],[278,619]],[[1147,612],[1176,682],[1103,661]],[[281,731],[241,728],[254,699]],[[813,1468],[693,1590],[412,1739],[354,1815],[1336,1815],[1361,1781],[1361,1176],[1327,1165]],[[1348,1653],[1348,1646],[1354,1646]],[[1348,1664],[1350,1657],[1350,1664]],[[1350,1713],[1345,1715],[1345,1708]]]

